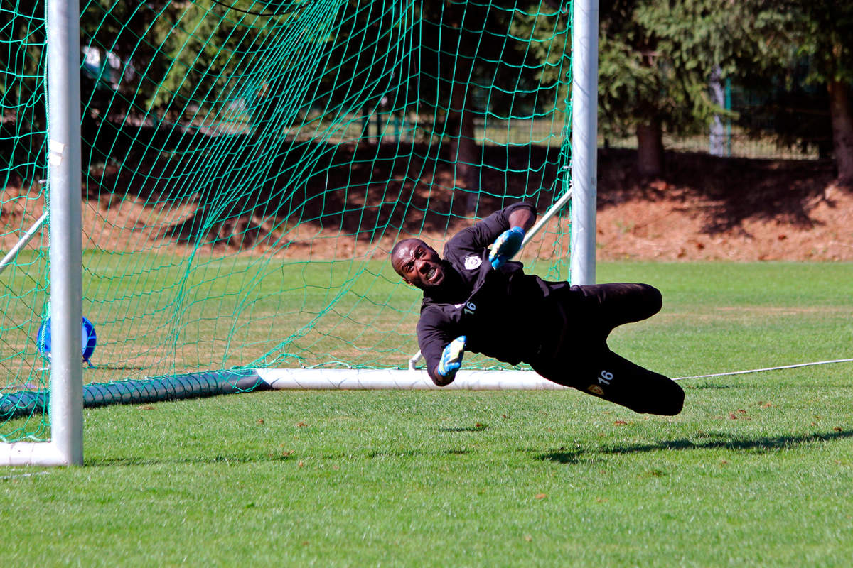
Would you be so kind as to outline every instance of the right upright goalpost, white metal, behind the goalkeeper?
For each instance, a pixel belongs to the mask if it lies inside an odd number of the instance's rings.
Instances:
[[[572,20],[572,284],[595,284],[598,0],[575,0]]]

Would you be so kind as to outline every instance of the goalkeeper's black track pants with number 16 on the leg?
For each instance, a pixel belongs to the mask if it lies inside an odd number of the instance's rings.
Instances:
[[[613,328],[659,312],[661,296],[657,289],[623,283],[572,286],[560,306],[566,315],[566,337],[552,357],[532,364],[537,373],[635,412],[681,412],[682,387],[607,347]]]

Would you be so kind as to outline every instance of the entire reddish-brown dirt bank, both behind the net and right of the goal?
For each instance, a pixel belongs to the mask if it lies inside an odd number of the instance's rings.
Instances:
[[[551,151],[523,149],[517,157],[503,150],[485,152],[478,215],[530,195],[538,196],[537,207],[544,211],[554,193],[540,188],[554,187],[554,169],[532,175],[519,164],[553,161]],[[158,195],[169,188],[144,186],[144,180],[167,176],[151,171],[137,175],[143,179],[138,183],[118,184],[109,172],[101,172],[85,190],[84,246],[142,250],[157,244],[160,252],[182,254],[202,238],[214,251],[239,253],[251,245],[245,254],[351,258],[377,245],[384,254],[396,238],[410,234],[440,250],[448,219],[449,232],[470,224],[465,212],[470,193],[454,186],[452,164],[431,157],[428,148],[413,148],[404,162],[383,159],[382,149],[374,157],[360,162],[337,156],[322,184],[306,182],[299,203],[281,199],[270,207],[268,199],[263,211],[214,223],[204,235],[195,232],[203,208],[198,196],[167,206]],[[601,152],[599,260],[853,261],[853,192],[833,184],[831,162],[682,153],[671,153],[667,160],[667,175],[643,180],[635,174],[635,152]],[[104,189],[119,185],[129,189],[120,195]],[[328,192],[330,186],[346,187],[344,197]],[[275,196],[277,189],[262,191]],[[3,189],[3,249],[15,243],[18,227],[29,227],[41,215],[41,199],[33,196],[38,187]],[[387,227],[386,232],[374,232],[377,226]],[[560,254],[560,246],[544,245],[539,250]]]

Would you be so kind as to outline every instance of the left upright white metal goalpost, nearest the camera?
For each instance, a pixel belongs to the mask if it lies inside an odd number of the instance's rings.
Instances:
[[[51,443],[83,463],[79,3],[48,0]]]

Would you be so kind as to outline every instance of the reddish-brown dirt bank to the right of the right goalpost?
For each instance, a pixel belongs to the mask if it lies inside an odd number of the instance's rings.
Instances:
[[[833,164],[669,157],[670,174],[632,181],[630,152],[600,163],[603,260],[853,260],[853,192]]]

